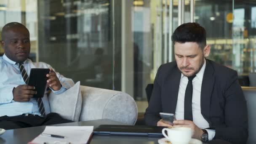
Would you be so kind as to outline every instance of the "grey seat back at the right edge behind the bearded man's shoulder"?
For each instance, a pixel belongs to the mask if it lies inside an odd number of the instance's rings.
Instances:
[[[247,144],[256,144],[256,87],[242,87],[248,109],[248,141]]]

